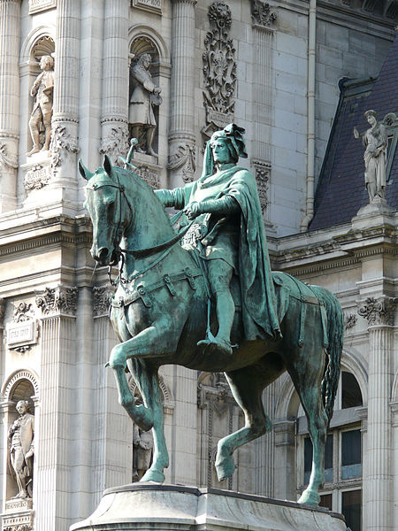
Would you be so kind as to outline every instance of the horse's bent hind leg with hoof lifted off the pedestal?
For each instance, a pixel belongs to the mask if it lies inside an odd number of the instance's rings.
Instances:
[[[269,369],[264,373],[261,366],[249,366],[226,373],[233,396],[245,414],[245,426],[218,442],[216,470],[219,481],[233,474],[234,450],[272,429],[271,420],[265,415],[261,396],[264,387],[275,380],[279,373],[280,369],[275,372]]]

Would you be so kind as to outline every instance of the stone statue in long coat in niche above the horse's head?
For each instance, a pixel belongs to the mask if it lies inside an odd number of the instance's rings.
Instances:
[[[139,141],[135,150],[157,156],[153,149],[157,121],[152,107],[162,104],[162,89],[152,81],[149,72],[151,62],[150,54],[143,53],[131,68],[134,89],[130,97],[128,121],[132,125],[132,136]]]

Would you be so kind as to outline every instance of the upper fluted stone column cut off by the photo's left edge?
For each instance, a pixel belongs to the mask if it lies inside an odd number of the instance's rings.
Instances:
[[[16,208],[20,0],[0,0],[0,212]]]

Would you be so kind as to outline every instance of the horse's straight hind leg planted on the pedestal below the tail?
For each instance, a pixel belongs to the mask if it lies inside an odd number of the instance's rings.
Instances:
[[[311,377],[312,376],[312,377]],[[310,440],[312,442],[312,469],[310,482],[299,499],[300,504],[317,504],[320,496],[318,489],[325,483],[325,443],[328,419],[321,392],[319,374],[306,373],[305,381],[295,386],[305,411]]]

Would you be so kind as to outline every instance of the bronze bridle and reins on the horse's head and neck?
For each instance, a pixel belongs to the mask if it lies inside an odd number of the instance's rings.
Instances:
[[[188,224],[187,227],[184,227],[182,230],[180,230],[179,234],[174,235],[170,240],[167,240],[166,242],[162,242],[162,243],[159,243],[157,245],[153,245],[151,247],[147,247],[145,249],[121,249],[120,246],[119,246],[119,242],[121,240],[121,237],[123,235],[124,230],[126,230],[126,228],[128,228],[130,226],[130,224],[131,224],[131,221],[133,219],[133,208],[132,208],[132,206],[130,204],[130,201],[128,200],[128,197],[126,196],[126,187],[123,184],[120,183],[118,173],[117,172],[115,172],[115,173],[116,173],[116,177],[118,179],[118,183],[117,184],[107,181],[107,182],[104,182],[103,184],[99,184],[99,185],[95,183],[90,188],[93,191],[96,191],[98,189],[109,187],[109,188],[117,189],[119,191],[119,201],[118,201],[119,221],[118,222],[115,222],[114,220],[111,221],[112,225],[114,227],[116,227],[115,236],[113,238],[114,248],[113,248],[113,252],[112,252],[112,256],[114,258],[111,261],[110,265],[108,266],[108,278],[109,278],[109,281],[111,282],[112,286],[117,286],[119,281],[122,284],[128,284],[129,282],[132,282],[136,278],[142,276],[142,274],[144,274],[147,271],[149,271],[149,269],[151,269],[152,267],[157,266],[157,264],[159,262],[161,262],[169,254],[169,252],[172,250],[172,247],[177,242],[180,242],[180,240],[184,237],[184,235],[187,234],[189,228],[192,226],[192,224],[195,221],[195,219],[193,219]],[[128,224],[126,225],[125,229],[123,229],[123,223],[122,223],[122,198],[123,197],[126,199],[126,204],[128,206],[129,212],[130,212],[130,216],[129,216],[130,220],[129,220]],[[180,211],[180,212],[178,212],[177,214],[175,214],[172,217],[172,219],[171,219],[172,225],[174,225],[174,223],[176,223],[178,221],[178,219],[180,219],[180,216],[181,216],[182,212],[183,211]],[[160,256],[158,256],[153,262],[151,262],[148,266],[146,266],[142,271],[140,271],[138,273],[135,273],[132,277],[129,277],[129,278],[123,277],[122,271],[123,271],[123,266],[124,266],[125,260],[126,260],[125,255],[131,255],[135,259],[140,259],[140,258],[148,258],[148,257],[150,257],[152,255],[158,254],[161,251],[163,251],[162,254],[160,254]],[[111,269],[112,269],[112,266],[115,266],[118,262],[120,262],[119,275],[113,281],[111,279]]]

